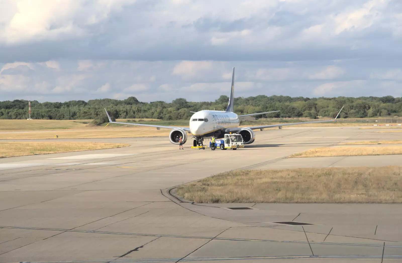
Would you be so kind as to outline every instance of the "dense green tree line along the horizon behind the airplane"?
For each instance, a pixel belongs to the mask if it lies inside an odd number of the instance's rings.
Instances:
[[[32,119],[100,119],[105,117],[106,108],[111,117],[116,119],[189,119],[193,113],[203,109],[225,110],[228,96],[222,95],[211,102],[191,102],[183,98],[171,103],[154,101],[150,103],[138,101],[135,97],[124,100],[92,99],[89,101],[38,102],[31,101]],[[339,109],[341,118],[364,118],[402,116],[402,98],[385,97],[289,97],[266,96],[238,97],[234,99],[235,112],[250,114],[265,111],[272,113],[269,117],[335,117]],[[28,101],[16,99],[0,101],[0,119],[27,119]]]

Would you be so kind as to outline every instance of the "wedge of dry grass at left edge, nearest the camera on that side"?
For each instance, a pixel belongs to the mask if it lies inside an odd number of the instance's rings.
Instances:
[[[129,146],[129,144],[102,142],[0,142],[0,158],[120,148],[125,146]]]

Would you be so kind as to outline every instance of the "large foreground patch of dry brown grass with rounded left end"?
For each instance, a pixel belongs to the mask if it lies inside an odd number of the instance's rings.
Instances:
[[[196,203],[400,203],[402,168],[241,170],[177,189]]]

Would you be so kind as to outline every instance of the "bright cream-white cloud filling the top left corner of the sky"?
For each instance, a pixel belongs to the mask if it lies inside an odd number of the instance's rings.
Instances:
[[[86,25],[96,24],[106,19],[113,11],[121,11],[122,6],[133,4],[135,0],[6,0],[8,10],[0,11],[0,16],[14,10],[14,16],[7,16],[5,26],[0,28],[0,42],[7,44],[29,40],[57,39],[63,36],[82,36]]]

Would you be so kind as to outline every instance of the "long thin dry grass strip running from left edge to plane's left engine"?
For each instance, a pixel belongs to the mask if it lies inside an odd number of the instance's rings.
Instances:
[[[78,139],[78,138],[125,138],[125,137],[151,137],[168,136],[170,129],[156,128],[102,128],[71,131],[37,131],[37,132],[4,132],[0,133],[0,139],[50,139],[55,135],[58,138]]]

